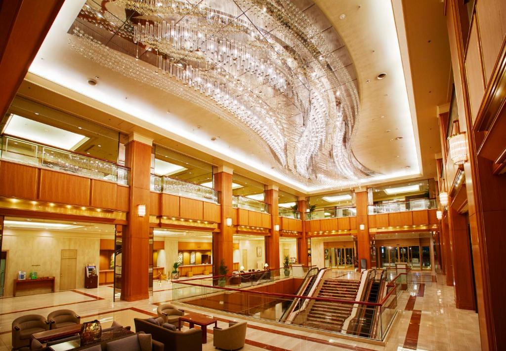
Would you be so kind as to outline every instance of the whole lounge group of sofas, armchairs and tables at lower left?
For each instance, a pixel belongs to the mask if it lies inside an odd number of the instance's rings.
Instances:
[[[157,315],[134,318],[135,332],[114,321],[104,329],[98,320],[81,324],[80,317],[71,310],[57,310],[47,318],[26,315],[12,323],[13,350],[199,351],[207,343],[207,326],[212,324],[216,348],[235,350],[244,346],[246,322],[230,322],[229,328],[222,329],[213,317],[185,314],[170,303],[160,304]]]

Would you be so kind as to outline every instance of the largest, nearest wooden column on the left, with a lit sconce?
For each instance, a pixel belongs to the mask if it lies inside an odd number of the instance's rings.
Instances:
[[[130,211],[128,226],[123,228],[123,286],[121,299],[142,300],[149,297],[149,215],[139,216],[138,206],[149,208],[151,140],[133,134],[126,144],[126,166],[130,167]]]

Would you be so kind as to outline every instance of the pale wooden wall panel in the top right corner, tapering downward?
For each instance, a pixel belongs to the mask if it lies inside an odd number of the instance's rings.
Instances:
[[[478,0],[476,13],[480,28],[480,41],[488,83],[506,35],[506,2],[504,0]]]

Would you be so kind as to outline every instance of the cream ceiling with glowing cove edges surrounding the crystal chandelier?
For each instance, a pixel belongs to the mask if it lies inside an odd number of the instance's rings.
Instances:
[[[126,0],[121,1],[124,3]],[[354,125],[350,138],[345,138],[346,145],[324,143],[323,149],[311,158],[314,168],[309,172],[309,176],[307,169],[306,173],[301,173],[297,167],[286,166],[290,162],[296,162],[288,158],[297,154],[297,146],[293,146],[292,151],[286,154],[286,164],[283,165],[283,161],[280,161],[279,155],[273,154],[273,149],[265,138],[259,137],[255,128],[248,130],[244,125],[240,126],[243,123],[231,120],[234,116],[226,117],[227,113],[217,113],[203,103],[191,104],[184,95],[178,96],[174,91],[167,92],[165,88],[161,89],[118,74],[103,64],[78,54],[76,42],[80,39],[68,31],[85,4],[84,1],[67,1],[64,4],[30,67],[30,72],[33,77],[37,77],[33,80],[47,85],[53,91],[71,96],[79,102],[92,103],[102,111],[127,123],[139,125],[150,133],[170,138],[181,146],[185,145],[185,148],[208,153],[214,156],[217,161],[215,164],[237,165],[286,186],[285,189],[293,189],[298,194],[328,192],[342,189],[344,186],[377,184],[410,177],[434,177],[434,155],[440,152],[436,111],[437,106],[447,100],[450,69],[443,4],[438,0],[394,0],[392,3],[361,3],[349,0],[340,2],[339,6],[335,6],[332,0],[316,0],[315,3],[299,0],[292,3],[298,7],[298,11],[304,12],[307,18],[318,18],[318,21],[314,21],[317,28],[315,33],[323,33],[321,35],[326,40],[326,47],[331,48],[328,52],[336,56],[346,67],[346,74],[352,78],[344,86],[328,85],[332,92],[340,92],[337,97],[333,94],[335,100],[340,100],[341,104],[348,104],[350,107],[353,105],[351,97],[356,94],[359,98],[356,111],[348,111],[348,115],[343,117],[349,125]],[[217,6],[214,2],[206,4]],[[117,15],[112,8],[109,10]],[[266,12],[270,11],[271,9],[267,9]],[[141,19],[146,18],[149,17]],[[268,21],[251,21],[269,27]],[[84,22],[87,21],[81,18],[80,28],[85,27]],[[87,33],[93,28],[92,25],[90,21],[86,23]],[[102,35],[104,31],[100,28],[97,32]],[[273,37],[282,37],[278,34],[273,31]],[[124,44],[124,40],[111,41],[109,46]],[[290,46],[294,47],[295,45]],[[130,50],[130,46],[122,48],[116,48],[114,52],[123,50],[128,53]],[[130,64],[132,58],[123,56],[126,58],[121,59]],[[135,58],[133,60],[135,61]],[[309,62],[309,65],[313,64],[315,63]],[[140,63],[143,69],[150,67],[149,65],[148,62]],[[378,74],[383,72],[387,73],[387,76],[381,80],[376,79]],[[340,77],[336,77],[339,80]],[[87,81],[90,78],[97,84],[89,85]],[[247,86],[252,88],[256,94],[254,96],[267,99],[262,93],[258,93],[258,90],[264,89],[261,86],[265,84]],[[344,89],[345,87],[347,89]],[[266,100],[266,108],[279,111],[284,109],[281,112],[274,111],[276,116],[297,107],[297,103],[292,100],[279,97],[281,93],[276,94],[271,94]],[[278,105],[280,100],[283,101]],[[287,107],[288,105],[290,107]],[[343,110],[346,112],[345,108]],[[329,107],[325,116],[336,116],[338,112],[335,111],[339,112],[339,108],[330,110]],[[328,130],[339,129],[335,128],[335,125],[332,129],[332,121],[326,123]],[[280,124],[285,140],[301,137],[300,134],[293,135],[293,130],[297,129],[293,126],[300,127],[301,124],[285,124]],[[119,124],[110,125],[121,130]],[[328,137],[328,134],[325,137]],[[330,152],[327,148],[329,145],[332,146],[330,149],[340,148],[346,156],[346,160],[340,158],[340,162],[350,162],[347,164],[348,169],[353,168],[352,177],[349,177],[349,174],[344,176],[339,164],[329,166],[335,158],[321,155],[322,151],[324,154]],[[292,158],[296,159],[296,156]],[[315,178],[315,170],[326,176]]]

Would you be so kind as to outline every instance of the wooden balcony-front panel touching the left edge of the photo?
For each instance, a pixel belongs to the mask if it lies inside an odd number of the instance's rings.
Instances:
[[[0,195],[36,200],[37,174],[35,167],[0,162]]]

